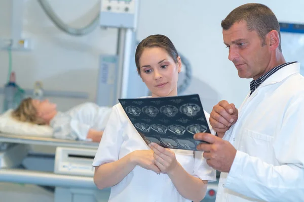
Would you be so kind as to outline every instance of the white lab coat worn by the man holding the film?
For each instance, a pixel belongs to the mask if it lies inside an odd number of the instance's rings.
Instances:
[[[248,95],[225,133],[236,148],[217,202],[304,201],[304,78],[290,64]]]

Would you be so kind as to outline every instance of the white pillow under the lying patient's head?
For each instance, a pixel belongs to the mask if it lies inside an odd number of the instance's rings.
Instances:
[[[8,110],[0,115],[0,132],[41,137],[53,136],[52,127],[18,121],[12,117],[12,112],[13,110]]]

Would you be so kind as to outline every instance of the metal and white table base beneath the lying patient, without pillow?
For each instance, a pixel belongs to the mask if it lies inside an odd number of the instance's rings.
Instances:
[[[18,167],[31,145],[51,146],[53,172]],[[109,188],[98,190],[91,166],[98,143],[0,133],[0,181],[55,187],[54,201],[107,201]]]

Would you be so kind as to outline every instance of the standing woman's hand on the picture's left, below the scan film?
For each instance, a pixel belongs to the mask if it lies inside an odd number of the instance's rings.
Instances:
[[[154,171],[156,173],[161,173],[161,170],[154,163],[154,151],[149,150],[135,150],[131,154],[131,161],[137,166],[144,169]]]

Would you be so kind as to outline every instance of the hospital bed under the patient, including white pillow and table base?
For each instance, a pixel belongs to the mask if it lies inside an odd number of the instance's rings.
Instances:
[[[0,182],[43,187],[55,202],[108,200],[109,189],[93,182],[98,143],[53,138],[50,126],[20,122],[11,113],[0,115]]]

